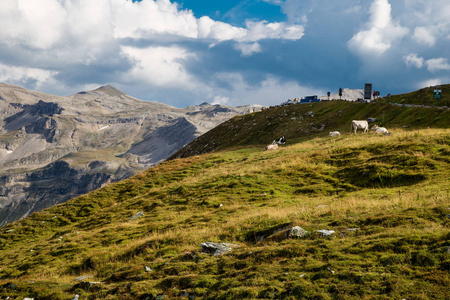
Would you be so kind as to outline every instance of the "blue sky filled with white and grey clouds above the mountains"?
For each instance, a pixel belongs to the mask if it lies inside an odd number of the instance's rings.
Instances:
[[[274,105],[450,83],[448,0],[0,0],[0,82]]]

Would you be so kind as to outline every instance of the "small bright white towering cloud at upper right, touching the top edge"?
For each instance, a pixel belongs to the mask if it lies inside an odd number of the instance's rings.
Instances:
[[[370,6],[370,20],[366,29],[355,34],[349,41],[351,51],[362,56],[380,56],[392,44],[408,33],[391,16],[391,5],[387,0],[374,0]]]

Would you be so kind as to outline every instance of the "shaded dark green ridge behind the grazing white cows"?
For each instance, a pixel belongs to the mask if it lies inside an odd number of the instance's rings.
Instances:
[[[236,116],[198,137],[171,158],[233,147],[265,146],[281,136],[288,143],[298,143],[328,136],[335,130],[349,134],[352,120],[367,118],[376,118],[376,124],[387,127],[393,134],[404,128],[450,128],[450,110],[346,101],[297,104]]]

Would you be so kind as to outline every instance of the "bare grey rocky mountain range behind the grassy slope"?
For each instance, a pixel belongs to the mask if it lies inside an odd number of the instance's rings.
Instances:
[[[255,109],[180,109],[112,86],[59,97],[0,84],[0,226],[132,176]]]

